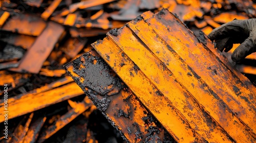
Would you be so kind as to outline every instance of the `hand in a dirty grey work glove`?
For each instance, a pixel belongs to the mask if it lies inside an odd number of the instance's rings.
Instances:
[[[246,56],[256,52],[256,18],[233,20],[214,29],[208,38],[215,40],[218,49],[228,52],[233,43],[241,43],[232,53],[232,60],[240,62]]]

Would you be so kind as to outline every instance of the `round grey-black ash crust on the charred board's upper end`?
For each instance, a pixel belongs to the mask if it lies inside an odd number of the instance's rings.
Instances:
[[[82,58],[85,62],[82,62],[80,58],[72,62],[74,73],[84,79],[83,83],[80,83],[82,87],[93,89],[101,95],[111,91],[117,83],[117,79],[110,74],[109,66],[101,58],[90,56],[87,53]],[[81,64],[84,67],[77,68]]]

